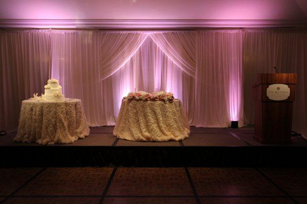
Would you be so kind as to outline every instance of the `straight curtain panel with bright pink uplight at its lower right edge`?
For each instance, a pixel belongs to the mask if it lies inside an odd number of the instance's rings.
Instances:
[[[196,38],[195,124],[229,127],[243,124],[242,33],[199,31]]]

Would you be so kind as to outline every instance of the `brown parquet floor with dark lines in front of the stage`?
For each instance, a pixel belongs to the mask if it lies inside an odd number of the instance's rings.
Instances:
[[[2,203],[306,203],[307,169],[2,168]]]

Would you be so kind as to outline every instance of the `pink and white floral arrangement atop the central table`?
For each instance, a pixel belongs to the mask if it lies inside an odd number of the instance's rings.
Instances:
[[[164,101],[164,102],[172,102],[174,100],[174,96],[172,93],[167,92],[130,92],[124,99],[135,100],[135,101]]]

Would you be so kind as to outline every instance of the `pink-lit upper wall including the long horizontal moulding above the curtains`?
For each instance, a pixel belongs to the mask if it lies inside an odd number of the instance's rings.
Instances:
[[[305,0],[2,0],[3,28],[306,27]]]

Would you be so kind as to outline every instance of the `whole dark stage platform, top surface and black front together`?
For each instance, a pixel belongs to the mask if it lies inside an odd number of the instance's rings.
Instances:
[[[16,133],[0,137],[1,167],[306,167],[307,141],[262,145],[254,128],[191,127],[180,142],[130,142],[112,135],[114,127],[92,127],[89,137],[67,145],[14,143]]]

